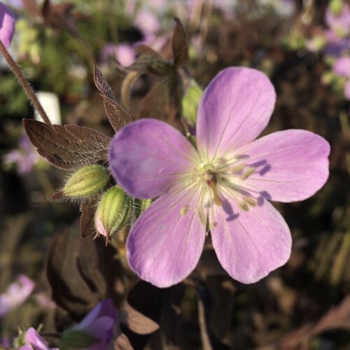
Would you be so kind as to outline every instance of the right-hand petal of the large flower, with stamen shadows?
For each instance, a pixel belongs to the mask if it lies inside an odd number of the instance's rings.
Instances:
[[[328,179],[330,146],[306,130],[285,130],[262,137],[239,150],[255,173],[244,187],[269,200],[295,202],[314,195]]]

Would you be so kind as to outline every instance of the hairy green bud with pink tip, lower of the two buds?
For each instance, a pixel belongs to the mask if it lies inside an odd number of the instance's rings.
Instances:
[[[129,221],[132,214],[132,199],[120,186],[110,188],[102,197],[97,207],[95,228],[97,234],[109,238],[120,231]]]

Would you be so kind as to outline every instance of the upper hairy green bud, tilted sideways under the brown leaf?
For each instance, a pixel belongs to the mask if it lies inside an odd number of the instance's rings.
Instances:
[[[92,164],[78,169],[69,178],[63,190],[52,195],[54,200],[61,197],[83,197],[94,195],[109,182],[109,172],[102,165]]]

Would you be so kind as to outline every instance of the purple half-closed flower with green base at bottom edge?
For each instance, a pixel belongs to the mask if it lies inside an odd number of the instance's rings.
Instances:
[[[119,314],[112,300],[102,300],[83,318],[83,321],[66,330],[61,341],[70,348],[109,349],[118,318]]]

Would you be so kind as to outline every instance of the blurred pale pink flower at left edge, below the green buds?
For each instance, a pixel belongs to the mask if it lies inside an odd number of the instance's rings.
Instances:
[[[25,274],[20,274],[6,292],[0,295],[0,317],[22,304],[34,289],[35,283]]]

